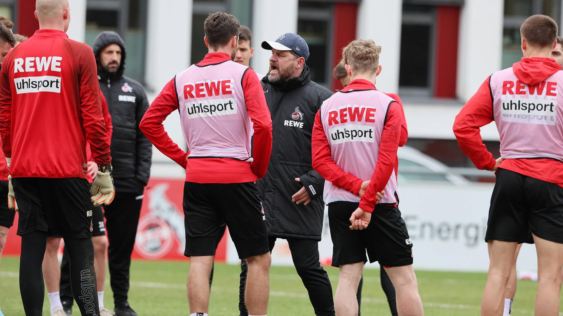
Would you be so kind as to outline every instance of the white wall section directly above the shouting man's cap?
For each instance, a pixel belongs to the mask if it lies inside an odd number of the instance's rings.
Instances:
[[[297,9],[298,0],[283,2],[254,0],[252,10],[254,55],[250,62],[257,73],[265,75],[268,72],[272,53],[263,49],[260,44],[264,40],[275,40],[285,33],[297,33]]]

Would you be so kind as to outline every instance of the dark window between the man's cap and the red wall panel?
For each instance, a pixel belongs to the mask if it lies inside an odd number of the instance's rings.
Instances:
[[[332,3],[299,2],[297,34],[309,46],[306,64],[311,79],[324,87],[330,87],[332,76]]]

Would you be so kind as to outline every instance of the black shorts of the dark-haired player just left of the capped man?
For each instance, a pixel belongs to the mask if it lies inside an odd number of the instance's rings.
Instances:
[[[184,184],[185,256],[215,255],[221,225],[227,223],[240,259],[270,251],[266,218],[256,185],[247,183]]]

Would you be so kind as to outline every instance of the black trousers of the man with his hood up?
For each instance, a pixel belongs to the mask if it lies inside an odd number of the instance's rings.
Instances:
[[[138,193],[118,192],[110,205],[104,206],[108,231],[110,285],[115,306],[126,306],[129,291],[131,252],[135,245],[142,198]]]

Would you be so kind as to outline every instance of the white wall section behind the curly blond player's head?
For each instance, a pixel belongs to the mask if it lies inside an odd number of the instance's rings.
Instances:
[[[358,7],[356,37],[373,39],[381,46],[379,65],[383,70],[376,87],[390,93],[399,91],[402,15],[403,0],[363,0]]]

